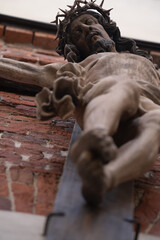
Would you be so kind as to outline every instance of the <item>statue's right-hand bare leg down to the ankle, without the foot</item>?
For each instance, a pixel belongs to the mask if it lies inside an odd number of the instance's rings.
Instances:
[[[121,146],[116,159],[104,166],[108,189],[150,170],[160,151],[160,111],[150,111],[133,124],[138,128],[138,136]]]

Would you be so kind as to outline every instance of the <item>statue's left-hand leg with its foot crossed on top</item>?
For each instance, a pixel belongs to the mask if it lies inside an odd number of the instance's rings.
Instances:
[[[85,150],[95,152],[96,149],[100,155],[103,151],[106,152],[107,142],[113,145],[108,136],[113,136],[120,120],[127,119],[137,112],[139,104],[137,85],[131,81],[120,81],[117,83],[113,79],[113,84],[110,81],[108,93],[97,96],[88,103],[84,113],[84,132],[71,150],[74,161]]]

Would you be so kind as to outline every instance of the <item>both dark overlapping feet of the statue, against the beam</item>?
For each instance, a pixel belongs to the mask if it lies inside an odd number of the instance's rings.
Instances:
[[[77,163],[82,178],[82,194],[91,206],[99,205],[109,188],[104,165],[113,160],[117,148],[104,129],[82,133],[71,149],[71,159]]]

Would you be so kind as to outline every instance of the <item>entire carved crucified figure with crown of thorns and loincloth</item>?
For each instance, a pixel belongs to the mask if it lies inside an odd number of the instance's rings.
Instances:
[[[83,132],[70,156],[91,205],[150,170],[160,151],[160,71],[133,40],[121,38],[102,5],[76,0],[57,15],[57,52],[67,63],[0,61],[0,77],[43,87],[39,119],[75,116]]]

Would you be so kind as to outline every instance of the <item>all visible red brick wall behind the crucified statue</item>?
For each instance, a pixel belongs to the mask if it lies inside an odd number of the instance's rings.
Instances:
[[[64,62],[54,34],[0,25],[0,55],[44,65]],[[151,52],[160,66],[160,53]],[[46,215],[52,211],[73,119],[40,122],[34,97],[0,91],[0,209]],[[160,158],[135,184],[141,231],[160,236]]]

